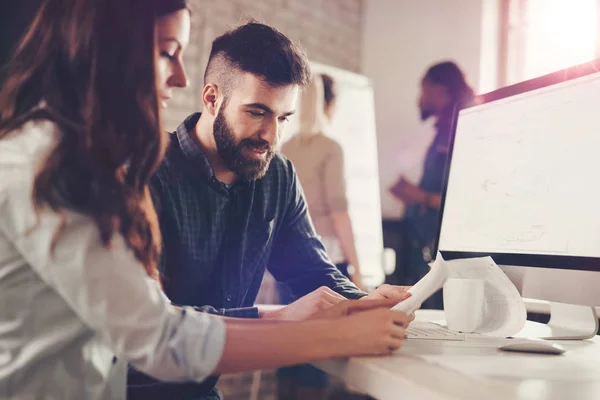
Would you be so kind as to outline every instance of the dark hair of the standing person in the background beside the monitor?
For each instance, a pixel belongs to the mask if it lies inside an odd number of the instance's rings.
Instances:
[[[445,86],[453,103],[465,106],[473,101],[473,89],[467,83],[465,74],[460,67],[452,61],[432,65],[423,79],[436,85]]]

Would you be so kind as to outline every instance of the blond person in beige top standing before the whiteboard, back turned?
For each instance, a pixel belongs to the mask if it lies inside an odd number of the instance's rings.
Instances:
[[[326,135],[336,107],[336,88],[329,75],[317,75],[300,97],[300,130],[281,147],[296,168],[315,231],[336,267],[363,287],[352,222],[348,214],[344,152]],[[351,271],[351,272],[350,272]],[[289,301],[282,288],[282,301]],[[280,400],[325,399],[328,377],[312,365],[277,371]]]

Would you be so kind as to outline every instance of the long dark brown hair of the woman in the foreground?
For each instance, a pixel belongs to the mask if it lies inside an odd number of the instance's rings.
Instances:
[[[155,1],[44,0],[0,90],[0,139],[28,121],[53,121],[61,134],[35,178],[36,208],[88,215],[105,246],[121,233],[158,277],[148,181],[166,134],[154,72]]]

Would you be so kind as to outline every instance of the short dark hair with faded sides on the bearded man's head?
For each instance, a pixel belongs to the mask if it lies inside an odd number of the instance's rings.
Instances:
[[[204,84],[215,83],[227,94],[239,72],[256,75],[271,86],[305,86],[311,76],[302,48],[277,29],[258,22],[215,39]]]

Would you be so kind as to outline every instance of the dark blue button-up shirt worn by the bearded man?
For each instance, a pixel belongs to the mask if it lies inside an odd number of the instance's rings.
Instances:
[[[364,296],[329,260],[292,163],[276,154],[263,178],[226,186],[217,181],[193,140],[199,118],[200,113],[193,114],[177,128],[151,182],[163,237],[160,270],[167,296],[179,305],[257,318],[253,306],[265,268],[295,297],[320,286],[347,298]],[[161,386],[168,388],[166,398],[183,398],[206,395],[215,383],[209,379],[202,385]],[[152,393],[157,390],[154,387]],[[134,392],[130,389],[128,398],[135,399]]]

